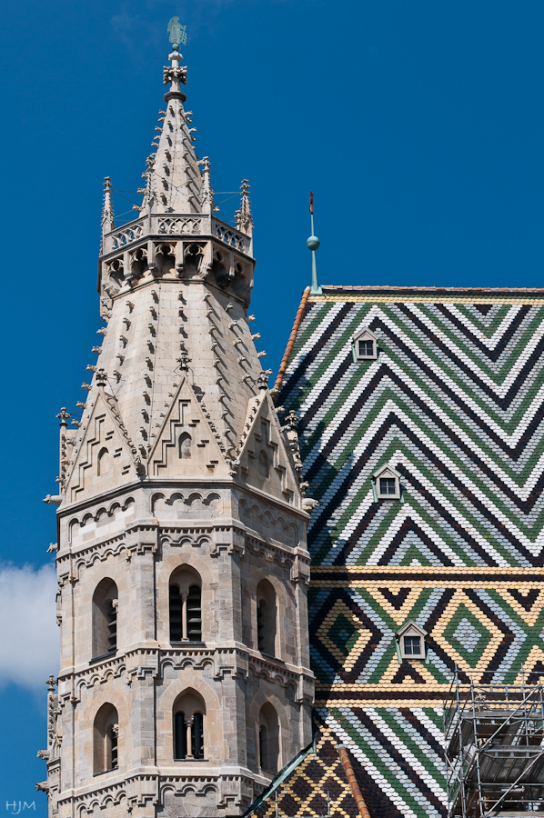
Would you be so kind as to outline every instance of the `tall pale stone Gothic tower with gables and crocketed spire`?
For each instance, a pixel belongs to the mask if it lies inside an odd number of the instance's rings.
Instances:
[[[311,740],[307,508],[247,315],[248,186],[217,218],[175,45],[143,205],[116,228],[80,420],[60,418],[51,816],[240,815]]]

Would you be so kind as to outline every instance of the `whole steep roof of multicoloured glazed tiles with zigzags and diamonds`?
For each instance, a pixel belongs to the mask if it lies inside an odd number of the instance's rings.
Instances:
[[[544,293],[327,288],[277,404],[295,409],[312,514],[317,714],[372,818],[438,816],[441,700],[544,673]],[[368,327],[377,360],[354,362]],[[400,500],[372,475],[400,474]],[[399,628],[427,633],[401,660]]]

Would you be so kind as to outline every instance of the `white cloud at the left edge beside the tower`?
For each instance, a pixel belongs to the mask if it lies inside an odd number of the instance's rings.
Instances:
[[[0,565],[0,685],[44,686],[58,672],[55,568]]]

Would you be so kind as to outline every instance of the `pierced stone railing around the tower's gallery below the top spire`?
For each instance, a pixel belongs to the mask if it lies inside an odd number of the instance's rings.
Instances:
[[[153,235],[212,235],[224,244],[247,255],[251,254],[251,239],[230,224],[209,214],[149,214],[112,230],[104,237],[102,255],[123,250],[146,236]]]

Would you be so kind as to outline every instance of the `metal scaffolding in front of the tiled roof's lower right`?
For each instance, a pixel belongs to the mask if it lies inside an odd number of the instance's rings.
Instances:
[[[444,703],[448,818],[544,816],[544,688],[459,683]]]

